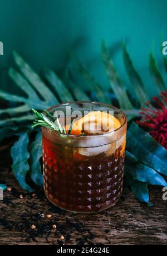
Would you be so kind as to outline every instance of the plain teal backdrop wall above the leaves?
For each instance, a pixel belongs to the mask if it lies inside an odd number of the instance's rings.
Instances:
[[[154,41],[155,57],[163,70],[160,36],[163,30],[165,40],[166,11],[165,0],[1,0],[4,55],[0,68],[12,65],[12,50],[17,50],[37,72],[43,67],[60,72],[72,51],[102,86],[109,87],[100,54],[104,38],[122,80],[130,87],[121,54],[125,40],[136,69],[154,94],[148,54]],[[1,73],[0,87],[13,90],[13,83]]]

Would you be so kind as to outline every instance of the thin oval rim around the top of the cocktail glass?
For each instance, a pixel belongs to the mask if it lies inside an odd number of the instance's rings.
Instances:
[[[119,131],[122,129],[122,127],[124,127],[127,123],[127,117],[125,115],[125,113],[120,110],[119,108],[115,107],[115,106],[112,106],[110,104],[106,104],[106,103],[102,103],[102,102],[97,102],[97,101],[68,101],[68,102],[65,102],[65,103],[59,103],[55,106],[52,106],[52,107],[49,107],[47,108],[47,111],[50,112],[53,108],[56,108],[56,107],[60,107],[60,106],[66,106],[66,105],[69,105],[69,104],[72,104],[72,103],[91,103],[91,104],[94,104],[94,105],[101,105],[101,106],[105,106],[105,107],[109,107],[109,108],[113,108],[114,110],[117,110],[119,111],[122,116],[124,116],[125,120],[124,120],[124,123],[117,129],[113,130],[113,131],[110,131],[110,132],[106,132],[105,134],[96,134],[96,135],[72,135],[72,134],[64,134],[63,132],[60,132],[60,131],[56,131],[56,130],[53,130],[53,129],[50,129],[48,127],[45,127],[45,126],[42,126],[42,129],[45,129],[45,130],[52,130],[53,134],[56,134],[56,135],[63,135],[63,137],[65,138],[77,138],[77,139],[80,139],[80,138],[100,138],[100,137],[104,137],[104,136],[109,136],[109,134],[112,134],[112,132],[115,132],[115,131]],[[44,111],[43,112],[44,115],[46,115],[46,112]]]

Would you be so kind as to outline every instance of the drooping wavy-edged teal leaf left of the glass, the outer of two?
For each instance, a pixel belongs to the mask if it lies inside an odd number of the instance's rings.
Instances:
[[[29,143],[27,132],[19,135],[18,141],[14,143],[11,148],[11,157],[13,159],[12,170],[13,174],[16,177],[19,185],[32,192],[33,189],[26,182],[26,175],[30,166],[28,164],[28,159],[30,158],[30,154],[27,150],[27,146]]]

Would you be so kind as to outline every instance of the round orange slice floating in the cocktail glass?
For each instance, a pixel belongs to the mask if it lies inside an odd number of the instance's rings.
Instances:
[[[115,116],[111,116],[106,112],[92,111],[73,123],[71,134],[81,135],[82,132],[87,135],[103,134],[104,132],[116,130],[120,126],[120,121]],[[68,131],[70,125],[66,125],[65,129]]]

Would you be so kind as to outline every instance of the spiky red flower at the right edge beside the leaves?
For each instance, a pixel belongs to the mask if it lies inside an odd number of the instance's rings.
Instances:
[[[149,134],[167,149],[167,91],[147,102],[148,108],[141,108],[138,125],[147,127]]]

